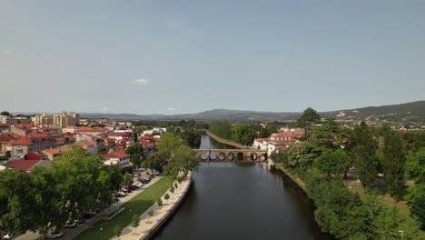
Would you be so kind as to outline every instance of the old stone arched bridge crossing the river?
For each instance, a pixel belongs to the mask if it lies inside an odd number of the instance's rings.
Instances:
[[[267,162],[266,150],[255,149],[193,149],[199,162]]]

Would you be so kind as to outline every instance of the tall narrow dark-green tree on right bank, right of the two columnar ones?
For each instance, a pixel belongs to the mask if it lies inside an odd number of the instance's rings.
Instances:
[[[401,192],[406,180],[406,156],[403,152],[403,144],[400,135],[394,131],[388,131],[384,139],[384,159],[382,163],[383,174],[388,191],[396,200],[400,199]]]

